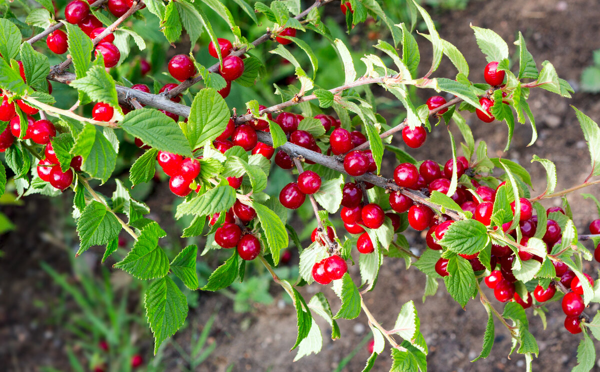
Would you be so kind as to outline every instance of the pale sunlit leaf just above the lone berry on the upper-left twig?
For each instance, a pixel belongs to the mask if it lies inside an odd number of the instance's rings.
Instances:
[[[105,102],[119,110],[115,80],[103,66],[91,66],[84,77],[71,81],[69,85],[77,90],[82,90],[93,101]]]

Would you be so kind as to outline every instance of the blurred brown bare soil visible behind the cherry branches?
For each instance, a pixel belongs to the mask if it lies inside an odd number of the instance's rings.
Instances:
[[[457,46],[471,66],[473,78],[481,78],[480,71],[485,65],[484,56],[479,53],[469,24],[494,29],[511,46],[515,32],[523,32],[527,47],[540,67],[544,60],[551,61],[560,77],[566,78],[575,87],[572,99],[563,99],[545,90],[532,92],[530,105],[538,125],[539,138],[533,146],[526,147],[531,138],[529,125],[517,125],[511,149],[503,153],[507,129],[494,122],[478,122],[473,115],[467,115],[476,140],[485,140],[490,156],[502,156],[519,162],[531,170],[535,192],[545,187],[545,172],[541,165],[530,164],[532,155],[548,158],[556,164],[559,175],[557,189],[580,183],[589,174],[589,155],[583,134],[575,119],[574,111],[568,106],[575,105],[581,111],[600,121],[600,101],[598,96],[578,92],[578,79],[581,71],[592,61],[592,51],[598,49],[597,31],[600,29],[600,7],[596,0],[516,0],[505,2],[471,1],[463,11],[449,11],[433,16],[439,23],[443,38]],[[419,40],[421,42],[422,40]],[[427,60],[430,52],[422,43],[422,59]],[[424,61],[424,65],[427,63]],[[445,60],[440,66],[439,76],[455,73],[452,65]],[[425,96],[423,97],[426,98]],[[455,134],[460,138],[460,134]],[[400,139],[397,139],[401,141]],[[431,158],[445,162],[451,151],[445,131],[434,130],[424,149],[412,152],[415,158]],[[160,198],[151,202],[151,207],[160,214],[164,205],[166,189],[159,187]],[[161,191],[160,191],[161,190]],[[585,192],[600,196],[598,187]],[[559,203],[559,200],[554,202]],[[583,228],[596,217],[595,206],[578,195],[569,196],[575,214],[575,224]],[[59,219],[31,220],[35,211],[49,211],[52,214],[69,213],[69,202],[60,204],[41,197],[24,199],[22,207],[6,207],[3,212],[16,223],[17,230],[0,237],[4,256],[0,259],[0,368],[8,371],[38,371],[40,366],[53,366],[69,370],[65,346],[73,339],[60,326],[49,324],[47,309],[34,304],[44,303],[60,292],[52,284],[38,262],[50,262],[59,271],[68,272],[68,246],[70,241],[57,232],[73,231],[73,226],[56,226]],[[548,204],[547,206],[550,206]],[[61,210],[62,209],[62,210]],[[48,234],[52,232],[52,234]],[[424,243],[416,234],[409,235],[415,249],[422,250]],[[60,246],[63,247],[60,247]],[[85,256],[85,255],[83,255]],[[92,256],[92,259],[97,257]],[[297,258],[296,258],[297,259]],[[213,266],[214,267],[214,266]],[[595,268],[587,264],[587,272]],[[358,268],[350,268],[350,273],[358,277]],[[386,259],[379,282],[373,292],[365,295],[365,302],[379,322],[386,328],[394,324],[400,307],[414,300],[421,319],[421,332],[430,350],[427,358],[431,371],[515,371],[524,370],[524,358],[513,354],[508,356],[511,341],[508,331],[496,322],[496,337],[492,355],[489,358],[471,363],[481,350],[487,314],[479,301],[471,301],[466,310],[458,306],[440,286],[433,297],[422,303],[424,275],[418,270],[405,270],[404,263]],[[322,291],[318,285],[302,288],[305,298],[314,292]],[[325,323],[317,320],[323,331],[323,350],[319,355],[307,356],[293,362],[295,352],[289,352],[296,338],[296,315],[289,301],[284,301],[283,291],[272,286],[271,294],[275,301],[268,306],[255,306],[251,313],[235,313],[233,303],[220,294],[202,294],[200,305],[190,311],[190,319],[203,324],[214,309],[217,313],[211,340],[217,342],[217,349],[197,371],[225,371],[235,364],[234,371],[331,371],[349,355],[368,334],[367,319],[364,315],[356,320],[340,320],[342,337],[331,341],[330,330]],[[332,300],[334,311],[338,302],[329,289],[325,294]],[[488,297],[493,297],[490,291]],[[495,302],[495,301],[494,301]],[[501,309],[494,303],[497,309]],[[534,359],[533,368],[537,371],[570,370],[577,364],[577,345],[581,337],[569,334],[563,328],[564,315],[559,303],[548,306],[548,324],[544,329],[539,317],[528,310],[530,329],[538,340],[539,358]],[[588,309],[593,314],[598,306]],[[191,331],[180,332],[175,336],[179,344],[187,344]],[[187,348],[187,347],[186,347]],[[146,350],[147,356],[151,350]],[[166,370],[180,370],[180,360],[172,350],[166,350]],[[341,371],[361,371],[368,358],[366,347],[361,347],[356,356]],[[391,360],[385,353],[377,360],[374,371],[386,371]],[[386,369],[387,368],[387,369]],[[595,370],[600,370],[596,367]]]

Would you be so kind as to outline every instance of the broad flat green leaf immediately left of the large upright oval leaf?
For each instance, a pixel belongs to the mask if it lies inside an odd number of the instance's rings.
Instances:
[[[181,128],[173,119],[158,110],[133,110],[125,115],[121,128],[155,149],[191,156],[190,144]]]

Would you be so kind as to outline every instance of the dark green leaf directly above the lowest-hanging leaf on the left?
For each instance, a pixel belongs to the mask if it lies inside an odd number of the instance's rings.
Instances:
[[[158,246],[158,238],[164,237],[166,232],[152,221],[142,228],[136,244],[122,261],[115,267],[127,271],[131,276],[140,280],[149,280],[164,277],[169,273],[169,258],[164,250]]]

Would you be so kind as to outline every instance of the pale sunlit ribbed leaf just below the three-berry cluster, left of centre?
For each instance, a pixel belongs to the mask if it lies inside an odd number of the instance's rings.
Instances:
[[[175,218],[191,214],[193,216],[209,216],[228,210],[235,203],[235,189],[229,185],[217,186],[202,195],[177,206]]]

